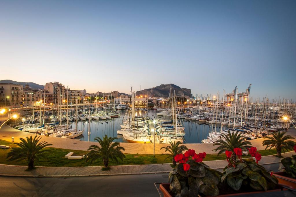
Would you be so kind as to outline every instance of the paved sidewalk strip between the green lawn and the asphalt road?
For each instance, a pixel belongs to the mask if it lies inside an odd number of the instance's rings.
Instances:
[[[294,151],[283,153],[289,157]],[[260,165],[280,163],[281,159],[275,156],[263,156]],[[226,160],[205,161],[212,169],[223,169],[227,166]],[[11,166],[0,164],[0,176],[17,177],[80,177],[80,176],[104,176],[104,175],[127,175],[127,174],[154,174],[167,173],[172,170],[170,164],[128,165],[111,166],[111,170],[102,171],[102,166],[88,167],[38,167],[31,172],[25,171],[27,166]]]

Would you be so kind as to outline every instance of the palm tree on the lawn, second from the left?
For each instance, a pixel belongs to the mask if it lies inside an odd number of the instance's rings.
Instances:
[[[118,158],[123,161],[123,158],[126,156],[121,151],[124,151],[125,149],[120,146],[119,142],[113,142],[117,139],[117,137],[108,138],[107,135],[104,136],[103,140],[100,137],[96,137],[94,140],[99,142],[100,147],[98,145],[91,145],[89,147],[88,150],[90,151],[86,154],[86,162],[90,160],[92,164],[95,160],[102,159],[104,167],[108,168],[109,159],[116,163],[118,163]]]

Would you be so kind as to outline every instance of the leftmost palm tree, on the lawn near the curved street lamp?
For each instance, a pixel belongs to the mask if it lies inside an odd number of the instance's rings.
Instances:
[[[39,136],[40,137],[40,136]],[[34,138],[32,136],[27,137],[27,139],[20,138],[20,143],[15,143],[19,147],[12,148],[11,151],[7,154],[6,158],[8,161],[13,161],[16,159],[22,160],[26,159],[28,161],[28,170],[34,169],[34,161],[42,156],[46,149],[41,150],[46,146],[50,146],[48,142],[39,142],[37,135]]]

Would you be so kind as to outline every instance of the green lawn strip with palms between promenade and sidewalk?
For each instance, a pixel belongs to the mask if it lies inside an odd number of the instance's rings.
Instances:
[[[12,142],[0,140],[1,145],[8,145],[10,147],[17,147]],[[35,166],[102,166],[102,161],[96,161],[94,164],[85,163],[84,159],[80,160],[68,160],[64,158],[64,156],[69,152],[74,152],[75,156],[83,156],[88,151],[83,150],[69,150],[69,149],[61,149],[61,148],[46,148],[49,150],[44,154],[44,157],[39,158],[37,162],[35,162]],[[27,165],[25,160],[21,161],[7,161],[6,156],[10,149],[0,149],[0,164],[8,164],[8,165]],[[262,156],[273,155],[276,154],[275,149],[269,150],[259,150],[258,151]],[[113,163],[110,161],[110,165],[139,165],[139,164],[163,164],[163,163],[171,163],[171,158],[164,161],[167,157],[166,155],[156,154],[155,157],[153,154],[125,154],[126,158],[123,161],[119,160],[119,164]],[[250,156],[244,156],[244,158]],[[213,161],[213,160],[223,160],[225,159],[225,154],[221,154],[217,156],[217,154],[207,154],[204,161]]]

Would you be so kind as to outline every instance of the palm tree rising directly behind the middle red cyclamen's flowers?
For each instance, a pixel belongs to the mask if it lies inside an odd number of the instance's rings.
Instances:
[[[224,153],[226,150],[232,151],[231,154],[231,160],[235,161],[237,159],[237,156],[233,152],[234,148],[241,148],[242,150],[246,150],[251,143],[249,141],[246,141],[247,137],[241,136],[241,132],[233,132],[230,133],[228,131],[228,134],[222,134],[222,138],[218,140],[213,145],[218,147],[214,149],[215,151],[218,151],[217,156],[219,156],[221,153]]]

